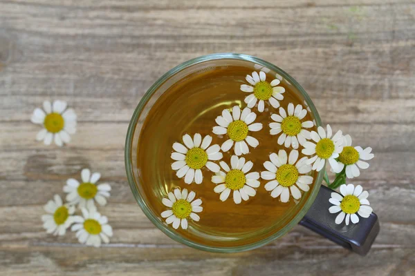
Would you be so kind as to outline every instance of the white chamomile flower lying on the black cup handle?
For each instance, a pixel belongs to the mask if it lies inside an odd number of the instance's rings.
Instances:
[[[341,213],[335,218],[336,224],[341,224],[344,217],[346,217],[346,225],[349,225],[349,221],[353,224],[359,222],[359,217],[369,217],[373,212],[371,206],[369,206],[369,201],[367,197],[369,193],[366,190],[363,190],[362,186],[358,185],[353,186],[353,184],[343,184],[340,186],[340,193],[331,193],[331,198],[329,199],[331,206],[329,212],[334,214],[341,211]],[[356,215],[358,213],[358,215]]]

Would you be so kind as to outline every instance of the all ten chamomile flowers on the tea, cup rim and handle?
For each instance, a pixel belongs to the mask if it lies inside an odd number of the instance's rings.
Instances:
[[[310,190],[313,184],[311,171],[320,172],[326,161],[332,172],[343,173],[350,179],[358,177],[360,169],[369,167],[366,161],[374,157],[371,148],[364,150],[360,146],[351,146],[350,135],[343,135],[341,130],[333,135],[329,125],[326,129],[319,126],[317,131],[311,130],[315,123],[306,119],[308,106],[304,108],[301,104],[294,106],[289,103],[284,109],[279,105],[286,92],[283,86],[279,86],[281,78],[269,82],[266,81],[265,72],[255,71],[246,76],[246,81],[248,83],[242,84],[240,88],[249,94],[244,99],[246,108],[241,110],[239,106],[233,106],[224,109],[215,119],[217,126],[212,128],[212,132],[225,138],[221,145],[212,144],[212,136],[203,137],[200,133],[185,134],[181,142],[173,144],[172,169],[178,178],[184,179],[185,184],[201,184],[206,168],[214,173],[210,181],[216,184],[213,190],[219,194],[219,199],[225,201],[232,193],[234,203],[240,204],[242,200],[255,197],[256,189],[261,184],[259,179],[263,179],[266,181],[264,188],[270,196],[284,204],[291,197],[300,199],[302,193]],[[259,145],[255,132],[264,127],[255,122],[257,114],[252,108],[257,106],[258,112],[264,112],[265,102],[275,109],[271,115],[272,122],[268,125],[270,135],[277,137],[276,143],[285,149],[269,155],[264,162],[264,171],[251,172],[253,163],[243,155]],[[299,158],[300,146],[306,157]],[[230,150],[234,154],[228,164],[222,159],[223,152]],[[367,201],[368,193],[360,185],[356,188],[353,184],[342,185],[340,193],[333,192],[330,199],[333,206],[329,212],[340,212],[335,219],[336,224],[343,220],[347,225],[349,221],[357,223],[358,215],[369,217],[372,209]],[[189,221],[199,221],[198,213],[203,211],[202,200],[195,198],[193,191],[175,188],[162,200],[168,209],[161,213],[161,217],[175,229],[179,226],[187,229]]]

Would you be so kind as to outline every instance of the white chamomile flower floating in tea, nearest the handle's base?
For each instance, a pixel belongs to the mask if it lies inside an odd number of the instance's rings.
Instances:
[[[264,163],[266,171],[261,172],[261,178],[271,180],[265,185],[265,189],[271,191],[271,197],[280,197],[285,203],[290,199],[290,191],[295,199],[300,199],[299,189],[304,192],[310,190],[313,177],[306,174],[311,172],[311,165],[307,164],[307,157],[297,159],[297,150],[291,150],[288,157],[285,150],[279,150],[278,155],[270,154],[270,161]]]

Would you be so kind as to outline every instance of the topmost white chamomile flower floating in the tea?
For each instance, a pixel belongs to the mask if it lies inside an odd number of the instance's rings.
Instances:
[[[252,72],[252,76],[246,75],[246,81],[250,83],[250,86],[248,84],[242,84],[241,90],[248,93],[253,92],[245,98],[245,103],[248,105],[248,108],[253,108],[259,100],[258,111],[264,112],[264,101],[269,101],[273,108],[278,108],[278,101],[284,99],[282,94],[285,92],[285,88],[278,86],[281,81],[274,79],[269,83],[266,81],[266,73],[263,71],[260,71],[259,74],[254,71]]]

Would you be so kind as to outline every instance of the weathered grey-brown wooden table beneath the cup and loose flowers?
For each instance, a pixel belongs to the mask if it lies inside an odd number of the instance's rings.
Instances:
[[[381,230],[366,257],[295,227],[263,248],[205,253],[156,229],[133,199],[124,137],[147,88],[178,63],[242,52],[284,68],[324,123],[371,146],[354,184]],[[0,275],[415,275],[415,3],[408,0],[1,0]],[[35,141],[30,115],[68,101],[77,133]],[[42,206],[89,167],[113,187],[99,249],[46,235]]]

